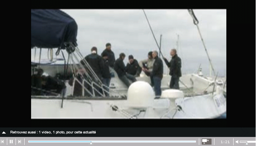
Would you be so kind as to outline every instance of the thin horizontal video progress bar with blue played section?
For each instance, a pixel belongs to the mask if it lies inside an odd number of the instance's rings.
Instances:
[[[159,142],[165,142],[165,143],[195,143],[196,141],[29,141],[29,143],[32,143],[32,142],[37,142],[37,143],[43,143],[43,142],[110,142],[110,143],[113,143],[113,142],[122,142],[122,143],[137,143],[137,142],[142,142],[142,143],[151,143],[151,142],[154,142],[154,143],[159,143]]]

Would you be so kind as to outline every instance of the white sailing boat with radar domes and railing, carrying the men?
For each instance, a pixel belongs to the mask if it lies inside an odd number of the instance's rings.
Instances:
[[[107,87],[98,79],[90,65],[81,55],[78,47],[74,45],[74,42],[64,41],[63,48],[69,53],[68,60],[71,62],[69,67],[74,77],[73,85],[69,86],[66,82],[66,90],[63,91],[63,94],[58,94],[57,96],[31,95],[31,119],[209,119],[216,118],[226,112],[226,100],[221,87],[214,85],[213,88],[216,88],[216,92],[209,90],[210,88],[202,90],[199,85],[204,87],[212,85],[210,85],[209,80],[204,80],[197,74],[182,76],[180,78],[183,82],[183,85],[180,86],[181,90],[168,89],[171,77],[164,76],[161,86],[161,98],[155,99],[153,88],[149,84],[149,77],[137,77],[137,82],[132,83],[127,88],[111,68],[110,71],[114,74],[114,77],[111,78],[110,87]],[[85,65],[77,64],[80,60]],[[82,81],[76,78],[76,73],[81,75]],[[83,89],[82,95],[87,93],[90,97],[67,96],[73,94],[75,82],[81,85]],[[89,90],[88,86],[92,90]],[[109,88],[109,92],[106,88]],[[98,89],[104,92],[101,93]],[[208,90],[209,92],[206,92]],[[95,93],[102,96],[96,97]],[[105,93],[110,94],[110,97],[105,97]]]

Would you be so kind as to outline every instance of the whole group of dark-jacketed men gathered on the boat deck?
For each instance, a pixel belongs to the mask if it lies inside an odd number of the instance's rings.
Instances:
[[[172,59],[170,62],[163,57],[166,65],[170,68],[170,88],[179,89],[179,77],[181,77],[181,59],[177,56],[176,50],[172,49],[170,52]],[[110,68],[114,68],[118,77],[124,84],[129,87],[131,82],[136,81],[136,77],[140,76],[143,71],[147,76],[150,77],[151,86],[154,87],[155,95],[157,98],[161,96],[161,80],[163,78],[163,61],[158,57],[157,51],[150,51],[148,58],[138,62],[133,58],[132,55],[128,56],[129,62],[125,66],[124,64],[125,54],[120,53],[119,58],[115,60],[115,54],[111,50],[111,44],[106,44],[106,49],[98,55],[97,48],[91,48],[91,54],[85,57],[85,60],[91,66],[98,79],[102,81],[104,85],[109,87],[111,81]],[[84,61],[81,60],[81,64],[84,65]],[[131,82],[129,81],[131,80]],[[97,80],[96,80],[97,81]],[[88,86],[87,86],[88,87]],[[104,87],[104,86],[103,86]],[[105,90],[109,91],[109,88],[104,87]],[[102,93],[102,89],[95,86],[95,89]],[[91,91],[92,89],[90,89]],[[99,96],[99,94],[95,95]],[[105,92],[106,96],[109,96]]]

